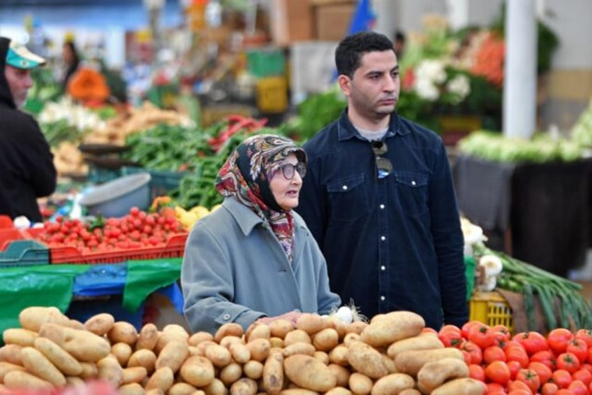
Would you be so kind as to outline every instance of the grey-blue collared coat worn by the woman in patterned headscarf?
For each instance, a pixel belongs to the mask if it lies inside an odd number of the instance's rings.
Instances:
[[[191,330],[214,333],[227,322],[246,329],[265,315],[327,314],[339,307],[325,259],[302,217],[293,215],[292,265],[269,224],[233,198],[195,225],[181,270]]]

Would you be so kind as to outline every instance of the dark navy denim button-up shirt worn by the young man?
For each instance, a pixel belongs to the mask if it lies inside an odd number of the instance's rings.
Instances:
[[[434,329],[461,326],[464,241],[441,138],[393,113],[383,156],[394,170],[379,179],[371,143],[346,111],[304,145],[296,209],[325,255],[331,290],[367,317],[410,310]]]

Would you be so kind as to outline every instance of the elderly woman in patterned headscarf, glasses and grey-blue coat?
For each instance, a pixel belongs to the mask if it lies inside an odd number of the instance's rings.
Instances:
[[[281,136],[251,136],[230,155],[216,178],[224,202],[186,243],[181,285],[191,330],[295,322],[339,307],[325,259],[293,211],[304,175],[304,150]]]

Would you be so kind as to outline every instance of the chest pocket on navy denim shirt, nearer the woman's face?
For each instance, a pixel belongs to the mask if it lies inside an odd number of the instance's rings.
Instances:
[[[365,180],[364,175],[360,174],[327,184],[332,220],[347,222],[368,215],[370,207]]]

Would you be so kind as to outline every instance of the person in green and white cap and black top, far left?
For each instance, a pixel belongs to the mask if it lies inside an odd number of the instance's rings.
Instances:
[[[31,69],[45,60],[0,37],[0,215],[43,219],[37,198],[52,194],[57,172],[39,125],[22,109],[33,86]]]

